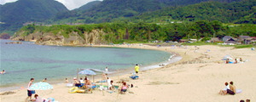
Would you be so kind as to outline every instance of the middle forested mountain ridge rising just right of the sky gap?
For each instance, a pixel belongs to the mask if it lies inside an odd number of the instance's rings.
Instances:
[[[83,12],[58,14],[55,20],[59,22],[102,23],[116,18],[130,18],[148,11],[154,11],[170,6],[184,6],[189,4],[218,1],[231,3],[241,0],[104,0],[97,6]]]

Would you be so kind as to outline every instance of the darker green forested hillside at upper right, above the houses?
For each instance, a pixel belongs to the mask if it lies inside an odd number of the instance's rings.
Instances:
[[[256,24],[256,1],[242,0],[234,3],[206,2],[184,7],[163,8],[129,19],[133,22],[173,22],[218,20],[224,23]]]

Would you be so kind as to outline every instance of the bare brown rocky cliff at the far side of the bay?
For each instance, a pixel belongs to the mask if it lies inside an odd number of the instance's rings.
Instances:
[[[71,32],[68,37],[64,37],[59,31],[57,34],[51,32],[40,32],[35,31],[32,34],[25,35],[25,31],[19,31],[11,40],[15,41],[29,41],[35,42],[39,45],[59,45],[59,46],[77,46],[77,45],[88,45],[88,44],[100,44],[106,43],[104,35],[106,33],[102,30],[92,30],[90,32],[84,32],[82,36],[78,32]]]

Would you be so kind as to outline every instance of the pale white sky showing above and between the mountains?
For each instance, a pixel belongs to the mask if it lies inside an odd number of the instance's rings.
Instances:
[[[17,0],[0,0],[0,4],[11,3],[15,1]],[[102,1],[102,0],[55,0],[55,1],[63,3],[69,10],[72,10],[74,8],[79,8],[84,4],[90,3],[92,1]]]

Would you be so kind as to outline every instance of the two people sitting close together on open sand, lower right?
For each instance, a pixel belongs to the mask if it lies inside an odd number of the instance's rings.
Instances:
[[[234,86],[234,83],[230,82],[230,85],[229,85],[228,82],[225,82],[225,88],[220,90],[218,94],[221,94],[221,95],[226,95],[226,94],[235,95],[236,94],[236,87]]]

